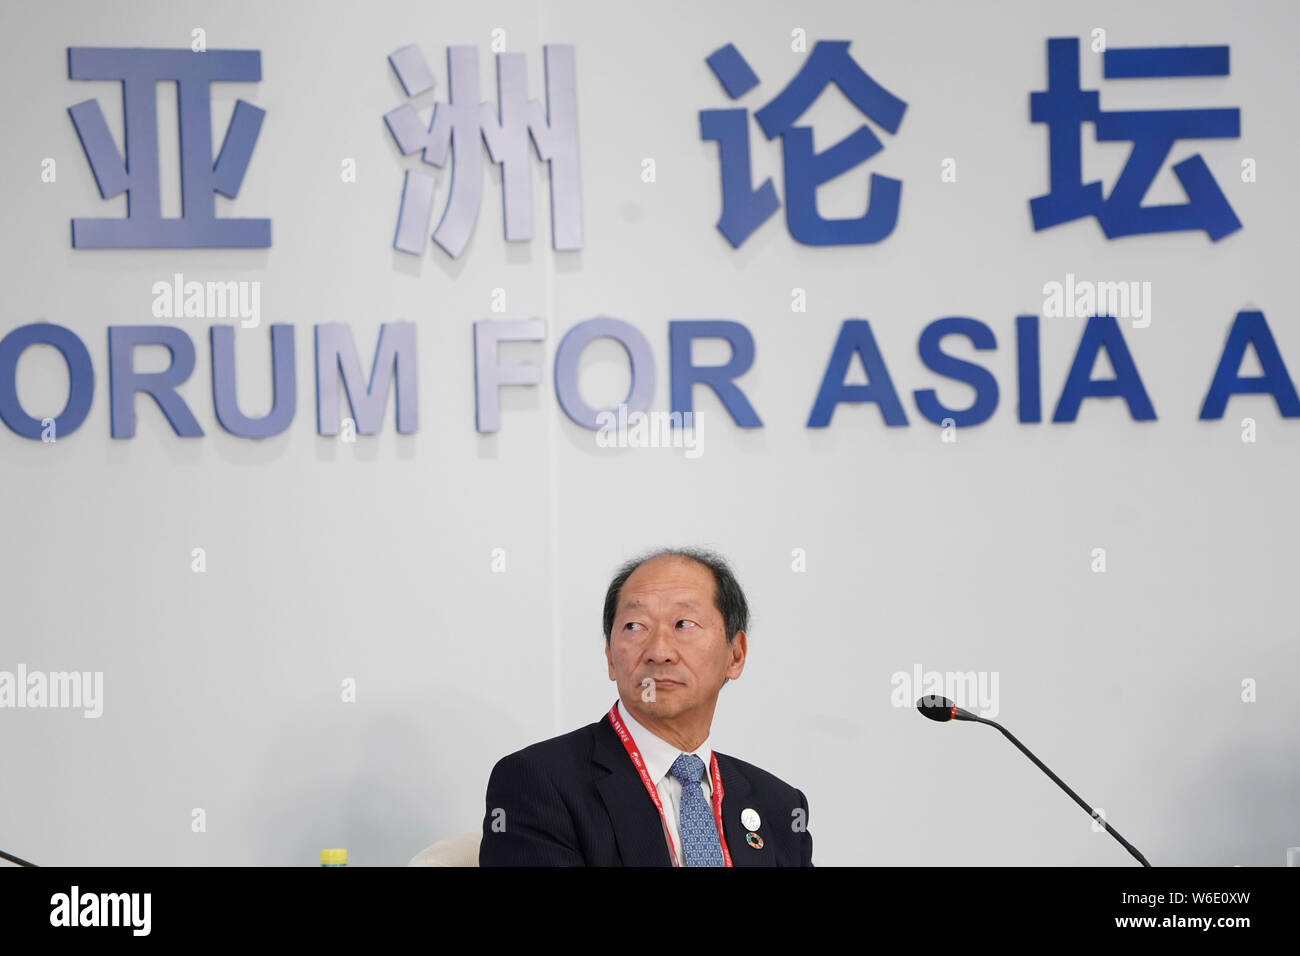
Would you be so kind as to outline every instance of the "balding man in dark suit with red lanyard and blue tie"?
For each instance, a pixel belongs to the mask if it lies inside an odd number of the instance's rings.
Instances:
[[[748,653],[749,607],[727,563],[699,549],[629,561],[603,623],[618,701],[497,762],[480,865],[811,866],[803,793],[708,744]]]

